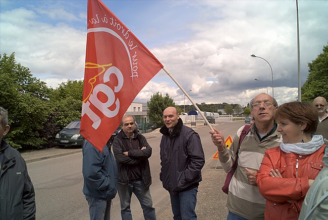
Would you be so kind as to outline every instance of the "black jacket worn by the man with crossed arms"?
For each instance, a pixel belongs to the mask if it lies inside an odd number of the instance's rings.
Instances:
[[[151,147],[148,144],[146,138],[134,131],[134,138],[139,141],[139,149],[146,146],[145,150],[130,150],[126,144],[126,139],[129,139],[123,132],[114,138],[113,142],[113,152],[116,162],[118,164],[119,177],[118,182],[121,185],[127,185],[129,183],[129,167],[130,166],[140,166],[141,167],[141,178],[145,188],[151,185],[151,175],[148,158],[151,156]],[[129,156],[124,155],[123,152],[128,152]]]

